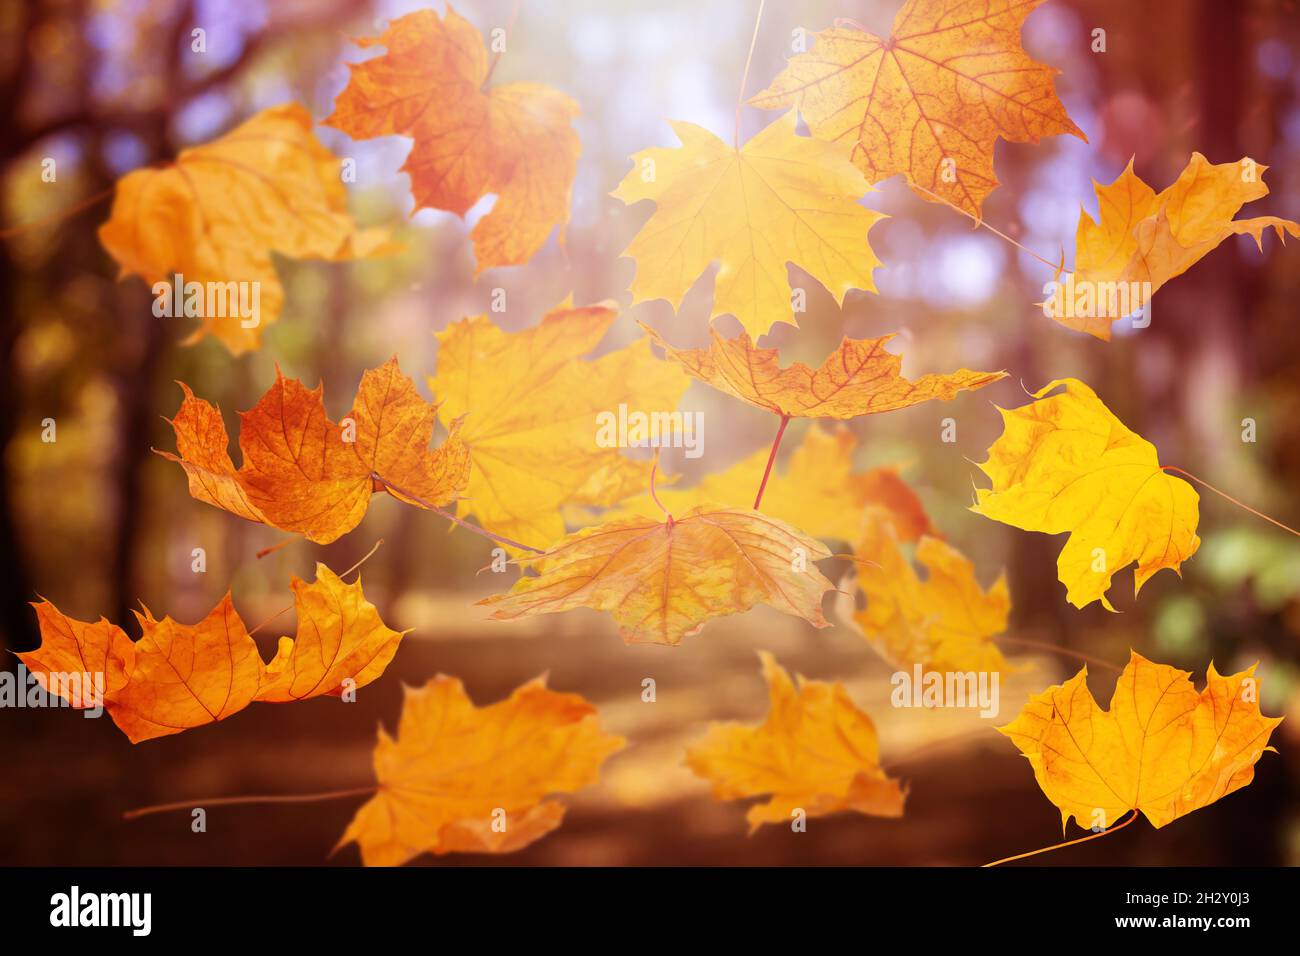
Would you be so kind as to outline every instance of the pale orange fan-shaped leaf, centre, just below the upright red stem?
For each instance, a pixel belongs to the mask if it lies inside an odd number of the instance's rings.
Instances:
[[[814,562],[819,541],[757,511],[697,507],[664,522],[624,518],[584,528],[520,564],[504,594],[478,604],[497,620],[575,607],[608,611],[629,644],[679,644],[707,620],[766,604],[828,627],[833,587]]]

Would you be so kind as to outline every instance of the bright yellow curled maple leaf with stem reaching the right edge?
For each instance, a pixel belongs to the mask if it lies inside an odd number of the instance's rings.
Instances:
[[[1106,591],[1115,571],[1138,562],[1136,597],[1153,574],[1178,571],[1196,553],[1200,498],[1078,378],[1049,382],[1034,398],[998,408],[1004,432],[979,466],[993,486],[976,490],[971,510],[1024,531],[1070,532],[1057,558],[1066,598],[1114,610]]]

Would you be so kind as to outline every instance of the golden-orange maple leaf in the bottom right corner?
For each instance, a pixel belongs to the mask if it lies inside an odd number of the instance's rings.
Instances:
[[[1191,671],[1131,652],[1110,709],[1088,691],[1084,667],[1030,698],[998,731],[1028,757],[1043,793],[1086,830],[1141,810],[1162,827],[1254,779],[1254,763],[1280,717],[1260,713],[1254,666],[1221,676],[1210,663],[1205,689]]]

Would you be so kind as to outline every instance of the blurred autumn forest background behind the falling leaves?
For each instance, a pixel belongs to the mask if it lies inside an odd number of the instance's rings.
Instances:
[[[550,685],[576,691],[630,745],[610,761],[601,787],[568,799],[566,825],[521,853],[450,857],[442,864],[982,864],[1061,839],[1060,816],[1026,761],[989,722],[959,711],[894,710],[890,669],[853,631],[815,631],[768,609],[711,623],[680,648],[624,646],[610,619],[590,611],[516,623],[485,620],[472,604],[503,587],[477,571],[490,542],[380,496],[364,523],[330,546],[296,540],[256,559],[281,536],[190,498],[181,470],[151,449],[174,447],[162,420],[181,399],[176,380],[234,412],[254,405],[276,363],[308,384],[325,382],[332,418],[350,406],[361,371],[396,354],[421,384],[433,372],[433,333],[486,312],[494,287],[516,329],[571,290],[578,303],[629,300],[633,264],[619,252],[649,216],[607,194],[628,156],[675,144],[664,118],[725,133],[753,29],[749,0],[659,0],[521,5],[494,81],[533,79],[582,108],[582,159],[567,251],[555,239],[528,265],[473,278],[468,222],[422,211],[411,216],[399,174],[410,140],[354,143],[317,127],[321,140],[358,160],[352,211],[363,225],[395,225],[403,255],[361,263],[278,260],[286,310],[260,352],[231,359],[214,339],[178,343],[183,320],[155,319],[139,280],[117,281],[96,238],[108,202],[68,209],[117,177],[165,161],[277,103],[299,100],[318,120],[363,59],[350,36],[377,34],[415,3],[364,0],[22,0],[0,12],[0,631],[9,649],[38,641],[27,602],[48,597],[68,614],[100,614],[138,633],[138,602],[196,620],[233,588],[250,623],[289,604],[290,575],[315,562],[348,567],[377,538],[363,568],[367,596],[387,623],[415,628],[387,674],[339,705],[317,700],[257,706],[218,724],[133,748],[107,719],[66,710],[0,710],[6,771],[0,808],[9,825],[0,864],[315,864],[360,803],[214,810],[208,832],[188,814],[126,823],[122,810],[207,795],[294,793],[363,786],[378,722],[393,727],[402,683],[438,671],[465,680],[476,702],[499,700],[550,671]],[[511,0],[464,0],[458,10],[481,30],[504,25]],[[768,4],[749,94],[789,55],[792,31],[852,17],[888,34],[897,0]],[[208,52],[190,52],[194,27]],[[1092,31],[1106,33],[1104,53]],[[1096,209],[1092,179],[1109,182],[1135,157],[1157,190],[1193,150],[1213,163],[1244,155],[1268,164],[1271,195],[1244,215],[1300,219],[1300,9],[1295,0],[1052,0],[1027,22],[1026,48],[1062,72],[1057,90],[1091,143],[1054,138],[1000,143],[1002,186],[985,203],[989,224],[1028,248],[1072,259],[1080,203]],[[744,135],[774,118],[746,108]],[[43,182],[42,160],[57,163]],[[1202,545],[1183,578],[1157,575],[1132,600],[1131,570],[1112,594],[1119,614],[1079,611],[1054,572],[1062,541],[996,524],[965,509],[984,449],[1000,420],[991,402],[1024,401],[1020,382],[1078,376],[1161,460],[1230,489],[1300,524],[1300,248],[1270,234],[1261,256],[1228,242],[1160,291],[1150,328],[1110,343],[1052,323],[1032,304],[1050,272],[957,212],[922,202],[901,178],[866,200],[892,219],[872,232],[885,265],[879,295],[850,293],[841,311],[816,282],[802,328],[777,326],[768,345],[785,362],[820,362],[842,334],[901,332],[904,371],[919,375],[1006,368],[1011,376],[946,405],[923,405],[852,423],[859,464],[909,462],[906,477],[935,522],[972,557],[985,584],[1010,575],[1010,635],[1060,644],[1117,665],[1128,648],[1193,671],[1210,659],[1223,672],[1261,661],[1264,710],[1291,719],[1274,735],[1254,783],[1164,830],[1140,822],[1114,838],[1039,857],[1043,864],[1300,864],[1300,540],[1202,494]],[[52,220],[36,228],[13,226]],[[802,274],[792,269],[796,285]],[[636,334],[633,317],[676,345],[706,341],[711,277],[679,313],[663,302],[624,313],[606,347]],[[738,328],[731,319],[722,328]],[[682,408],[703,410],[707,454],[670,470],[720,471],[759,447],[771,416],[698,382]],[[940,421],[958,441],[940,441]],[[42,441],[42,421],[57,441]],[[1258,441],[1242,441],[1253,418]],[[807,423],[792,425],[784,450]],[[968,460],[970,459],[970,460]],[[191,550],[204,548],[205,574]],[[842,542],[838,548],[842,550]],[[837,574],[837,571],[829,571]],[[264,653],[286,615],[259,635]],[[910,786],[902,819],[841,816],[806,834],[768,827],[746,838],[742,804],[710,800],[681,766],[684,747],[710,719],[755,721],[766,691],[755,650],[768,648],[792,671],[844,680],[874,717],[887,769]],[[1013,649],[1014,650],[1014,649]],[[269,654],[265,654],[269,656]],[[1057,654],[1030,665],[1002,691],[1009,719],[1026,696],[1076,670]],[[14,667],[5,656],[4,666]],[[644,704],[641,680],[658,682]],[[1114,675],[1093,667],[1102,701]],[[1072,835],[1076,835],[1072,832]],[[355,848],[330,857],[355,864]],[[422,857],[420,862],[430,862]]]

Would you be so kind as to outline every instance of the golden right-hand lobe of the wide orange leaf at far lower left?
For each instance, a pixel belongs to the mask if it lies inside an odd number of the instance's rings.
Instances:
[[[294,610],[298,637],[281,637],[274,659],[257,691],[260,701],[295,701],[356,691],[384,674],[406,631],[394,631],[380,619],[374,605],[361,593],[361,579],[352,584],[324,564],[316,580],[294,578]]]

